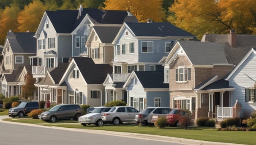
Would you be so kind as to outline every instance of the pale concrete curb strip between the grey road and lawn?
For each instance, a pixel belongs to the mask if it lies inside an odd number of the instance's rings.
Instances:
[[[65,128],[65,127],[57,127],[57,126],[43,126],[38,124],[25,124],[25,123],[16,123],[11,121],[3,121],[4,118],[10,118],[8,115],[0,115],[0,122],[8,123],[8,124],[20,124],[25,126],[37,126],[37,127],[44,127],[50,129],[62,129],[62,130],[69,130],[74,132],[86,132],[92,134],[106,134],[118,137],[130,137],[136,139],[143,139],[143,140],[156,140],[162,142],[177,142],[184,145],[242,145],[242,144],[233,144],[233,143],[222,143],[222,142],[208,142],[203,140],[191,140],[191,139],[183,139],[177,137],[165,137],[159,135],[149,135],[149,134],[138,134],[138,133],[129,133],[129,132],[111,132],[111,131],[103,131],[103,130],[91,130],[91,129],[72,129],[72,128]]]

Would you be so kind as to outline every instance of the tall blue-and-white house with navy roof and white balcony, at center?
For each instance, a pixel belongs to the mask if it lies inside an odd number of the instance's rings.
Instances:
[[[132,71],[162,71],[158,62],[169,54],[174,42],[178,39],[195,38],[168,22],[125,22],[112,43],[113,73],[103,83],[106,86],[106,102],[123,99],[131,105],[131,99],[123,85]]]

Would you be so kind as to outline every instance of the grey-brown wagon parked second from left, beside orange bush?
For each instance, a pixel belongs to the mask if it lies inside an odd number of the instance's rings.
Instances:
[[[38,115],[38,118],[44,121],[55,122],[57,120],[71,118],[78,120],[78,118],[84,114],[85,112],[77,104],[60,104],[52,107],[46,112],[41,113]]]

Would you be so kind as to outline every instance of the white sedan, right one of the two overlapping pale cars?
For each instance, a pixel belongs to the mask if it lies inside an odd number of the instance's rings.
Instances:
[[[101,113],[103,121],[110,122],[114,125],[121,124],[122,122],[133,122],[135,115],[139,111],[129,106],[115,106],[109,112]]]

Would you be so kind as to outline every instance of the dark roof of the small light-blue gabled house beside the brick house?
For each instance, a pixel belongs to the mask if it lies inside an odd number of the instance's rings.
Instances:
[[[162,71],[135,71],[143,88],[169,88],[169,83],[163,83],[164,73]]]

